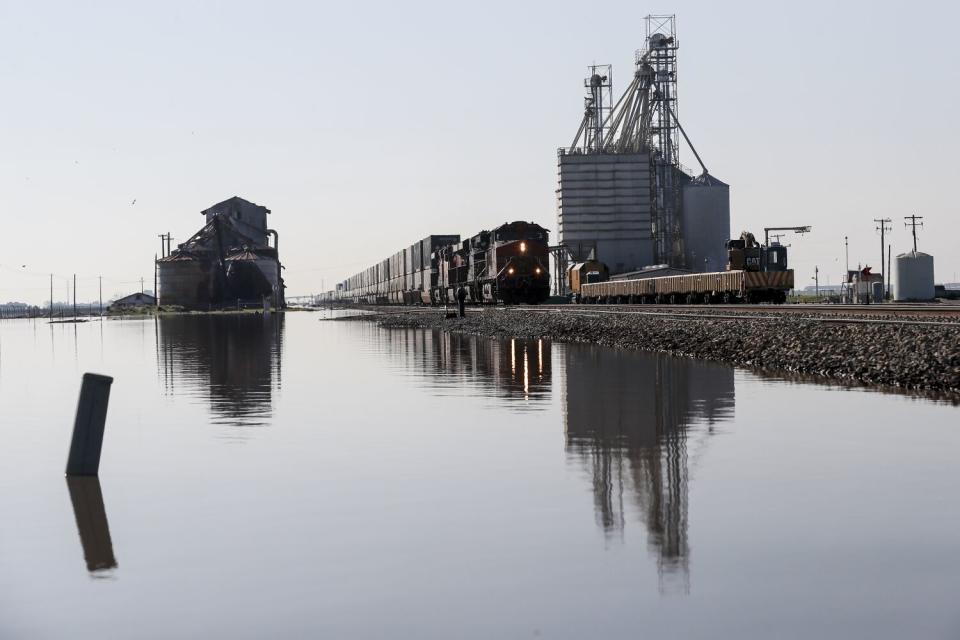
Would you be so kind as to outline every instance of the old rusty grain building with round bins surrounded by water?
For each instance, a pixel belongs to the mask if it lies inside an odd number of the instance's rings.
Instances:
[[[201,213],[203,228],[157,260],[160,305],[284,306],[278,236],[267,228],[270,210],[234,196]]]

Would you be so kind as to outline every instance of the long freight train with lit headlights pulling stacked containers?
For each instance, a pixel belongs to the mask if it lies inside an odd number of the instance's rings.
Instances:
[[[508,222],[461,241],[431,235],[337,284],[334,300],[367,304],[537,304],[550,295],[549,232]]]

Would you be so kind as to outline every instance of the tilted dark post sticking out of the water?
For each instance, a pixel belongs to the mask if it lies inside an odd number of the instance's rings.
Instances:
[[[70,455],[67,458],[68,476],[95,476],[100,470],[100,450],[103,448],[103,429],[107,421],[111,384],[113,378],[110,376],[83,374]]]

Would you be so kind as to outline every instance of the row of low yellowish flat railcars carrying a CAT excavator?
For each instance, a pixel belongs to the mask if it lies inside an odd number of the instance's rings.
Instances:
[[[793,270],[787,268],[787,248],[758,244],[752,233],[727,242],[727,270],[659,277],[607,279],[593,264],[575,264],[568,270],[573,302],[586,304],[713,304],[782,303],[793,288]],[[600,265],[603,266],[602,264]]]

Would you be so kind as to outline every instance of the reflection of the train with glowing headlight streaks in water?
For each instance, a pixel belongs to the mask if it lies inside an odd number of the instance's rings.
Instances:
[[[543,339],[495,340],[438,329],[367,327],[369,338],[383,342],[385,351],[399,355],[403,367],[430,377],[434,388],[467,384],[485,395],[507,400],[534,401],[550,395],[551,348]],[[515,408],[519,406],[514,405]]]

